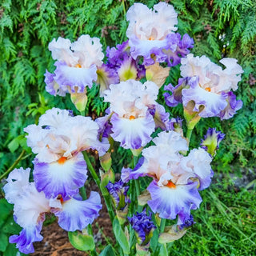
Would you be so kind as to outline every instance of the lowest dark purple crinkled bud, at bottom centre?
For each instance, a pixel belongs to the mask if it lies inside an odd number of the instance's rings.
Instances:
[[[133,217],[128,217],[128,220],[136,232],[137,242],[140,246],[146,246],[150,242],[150,238],[153,236],[153,232],[156,228],[154,222],[151,219],[152,213],[146,214],[146,208],[139,214]]]

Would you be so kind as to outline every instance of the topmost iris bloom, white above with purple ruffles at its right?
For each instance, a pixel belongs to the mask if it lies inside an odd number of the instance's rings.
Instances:
[[[129,26],[126,36],[129,38],[130,54],[136,59],[143,57],[143,65],[154,62],[167,62],[168,66],[180,63],[180,56],[185,57],[194,41],[185,34],[175,34],[178,14],[174,7],[166,2],[159,2],[150,10],[142,3],[134,3],[127,11]]]

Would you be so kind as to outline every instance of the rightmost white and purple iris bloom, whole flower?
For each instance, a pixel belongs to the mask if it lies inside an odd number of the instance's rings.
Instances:
[[[185,110],[198,112],[202,118],[220,117],[228,119],[241,109],[242,101],[236,100],[231,90],[238,89],[243,73],[242,67],[234,58],[220,61],[225,70],[206,56],[194,57],[188,54],[182,58],[181,75],[178,86],[166,86],[172,95],[164,94],[168,106],[182,102]]]

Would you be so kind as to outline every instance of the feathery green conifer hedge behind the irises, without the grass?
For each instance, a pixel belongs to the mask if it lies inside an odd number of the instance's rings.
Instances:
[[[152,7],[158,1],[141,2]],[[106,46],[115,46],[126,39],[125,14],[133,3],[134,1],[111,0],[103,2],[72,0],[65,4],[55,0],[2,3],[0,7],[2,52],[0,149],[2,152],[9,152],[6,146],[22,134],[21,127],[26,126],[26,120],[18,116],[26,116],[32,121],[33,118],[37,120],[38,116],[51,106],[61,104],[63,108],[73,108],[69,101],[51,95],[46,96],[50,99],[47,102],[48,106],[39,109],[40,106],[36,105],[38,95],[42,92],[46,94],[45,70],[54,70],[54,61],[50,58],[50,51],[47,49],[48,43],[58,36],[74,41],[81,34],[90,34],[101,38],[105,49]],[[254,86],[256,5],[250,0],[209,2],[174,0],[171,3],[178,12],[178,32],[188,33],[194,38],[194,50],[192,50],[194,54],[206,54],[214,62],[218,62],[223,57],[238,58],[238,62],[245,70],[240,84],[241,89],[238,90],[238,98],[244,102],[243,109],[231,121],[220,122],[217,118],[208,118],[210,120],[200,122],[194,134],[196,137],[193,138],[197,139],[198,135],[202,137],[206,132],[206,126],[218,126],[224,133],[230,134],[228,135],[230,138],[222,142],[223,147],[228,151],[223,153],[224,158],[217,156],[218,161],[226,165],[235,164],[234,162],[242,165],[252,164],[250,159],[253,157],[256,144],[255,114],[251,114],[255,111],[255,104],[252,102],[256,95]],[[170,70],[167,82],[175,85],[178,77],[179,70],[176,66]],[[100,116],[104,114],[106,107],[107,104],[98,97],[98,88],[94,86],[88,93],[86,113]],[[17,115],[14,115],[15,111],[18,111]],[[174,117],[182,115],[180,107],[168,111]],[[19,119],[18,122],[15,118]],[[9,126],[6,126],[6,123]],[[239,143],[239,149],[229,144],[234,142]],[[237,158],[236,155],[239,157]],[[244,162],[244,158],[249,159],[248,162]],[[0,170],[3,170],[1,165]]]

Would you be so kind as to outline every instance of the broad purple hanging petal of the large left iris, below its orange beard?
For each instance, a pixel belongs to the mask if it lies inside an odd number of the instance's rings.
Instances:
[[[69,198],[78,194],[78,189],[86,182],[86,168],[82,153],[62,162],[46,163],[35,159],[34,182],[38,191],[46,194],[46,198],[56,198],[58,194],[62,198]]]

